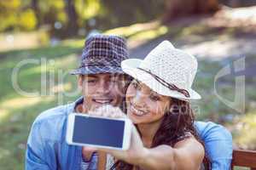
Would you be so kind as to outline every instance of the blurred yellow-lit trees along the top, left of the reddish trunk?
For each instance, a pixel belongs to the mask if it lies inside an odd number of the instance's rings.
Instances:
[[[67,12],[67,2],[74,5],[73,16]],[[165,0],[1,0],[0,31],[32,31],[48,26],[52,35],[63,37],[67,34],[70,20],[75,20],[80,28],[80,32],[76,34],[84,36],[92,29],[106,30],[154,20],[163,13],[164,2]]]

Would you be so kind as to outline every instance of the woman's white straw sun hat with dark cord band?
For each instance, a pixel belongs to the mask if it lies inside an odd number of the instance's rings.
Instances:
[[[145,59],[125,59],[121,67],[158,94],[183,100],[201,99],[191,88],[197,60],[169,41],[161,42]]]

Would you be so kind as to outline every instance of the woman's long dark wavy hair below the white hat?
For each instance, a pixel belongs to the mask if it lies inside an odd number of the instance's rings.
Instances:
[[[178,141],[189,138],[188,134],[194,135],[195,139],[203,144],[196,132],[194,121],[195,116],[189,102],[180,99],[172,99],[170,111],[166,112],[164,115],[159,129],[154,135],[151,148],[160,144],[168,144],[173,147]],[[138,128],[137,130],[139,131]],[[111,169],[132,170],[133,167],[133,165],[125,161],[118,160]],[[211,169],[211,163],[207,156],[204,157],[203,167],[204,169]],[[139,170],[140,167],[136,167],[136,169]]]

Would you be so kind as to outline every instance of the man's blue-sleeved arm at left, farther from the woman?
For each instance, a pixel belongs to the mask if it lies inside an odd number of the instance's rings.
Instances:
[[[26,145],[26,170],[49,170],[56,169],[55,153],[49,148],[49,143],[42,138],[44,129],[41,124],[34,122]],[[47,146],[48,145],[48,146]]]

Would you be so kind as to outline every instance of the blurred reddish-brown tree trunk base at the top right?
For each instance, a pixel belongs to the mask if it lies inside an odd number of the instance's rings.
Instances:
[[[166,0],[164,21],[189,14],[207,14],[216,12],[218,0]]]

